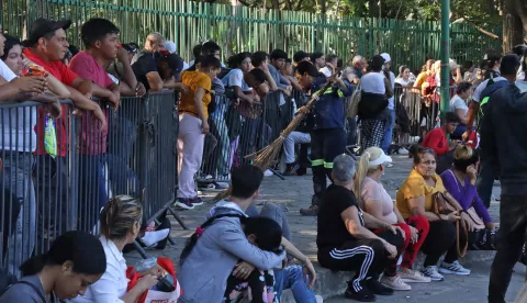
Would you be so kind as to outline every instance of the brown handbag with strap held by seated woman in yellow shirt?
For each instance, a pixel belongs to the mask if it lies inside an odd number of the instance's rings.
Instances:
[[[433,211],[437,215],[448,215],[451,213],[459,214],[458,210],[455,206],[456,204],[444,192],[436,192],[433,195]],[[469,234],[467,231],[467,225],[464,220],[456,221],[456,247],[458,250],[459,257],[464,257],[467,255],[467,249],[469,248]]]

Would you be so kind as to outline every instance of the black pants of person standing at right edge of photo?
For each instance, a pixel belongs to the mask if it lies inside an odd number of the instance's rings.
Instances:
[[[527,228],[527,197],[503,195],[497,252],[491,267],[489,303],[504,303],[514,265],[522,256]]]

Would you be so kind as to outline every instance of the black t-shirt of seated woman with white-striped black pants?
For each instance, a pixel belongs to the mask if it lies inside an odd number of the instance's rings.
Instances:
[[[357,207],[359,211],[360,225],[365,226],[362,211],[357,204],[354,192],[335,184],[327,188],[318,210],[318,228],[316,235],[316,246],[318,249],[338,247],[347,240],[356,239],[348,232],[340,216],[340,214],[350,206]]]

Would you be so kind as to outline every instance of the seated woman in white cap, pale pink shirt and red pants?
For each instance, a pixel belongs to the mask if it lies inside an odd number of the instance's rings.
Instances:
[[[389,162],[392,162],[392,158],[381,148],[366,149],[360,157],[355,192],[359,193],[359,206],[365,212],[404,232],[404,246],[399,250],[397,258],[391,260],[390,266],[384,270],[381,283],[394,290],[411,290],[412,288],[405,282],[430,282],[430,278],[412,270],[417,252],[428,235],[429,224],[426,217],[421,215],[414,215],[404,221],[395,207],[392,198],[381,183],[381,176],[384,175]],[[373,231],[375,234],[378,232],[379,229]],[[397,272],[397,259],[402,252],[404,258]]]

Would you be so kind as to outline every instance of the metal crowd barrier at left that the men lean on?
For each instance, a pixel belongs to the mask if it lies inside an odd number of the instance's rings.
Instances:
[[[1,103],[1,266],[19,266],[46,251],[61,233],[98,233],[112,197],[141,198],[144,221],[170,212],[177,186],[177,105],[173,92],[122,98],[117,111],[101,104],[108,131],[91,113],[61,101],[53,120],[37,102]],[[144,251],[139,250],[143,256]]]

